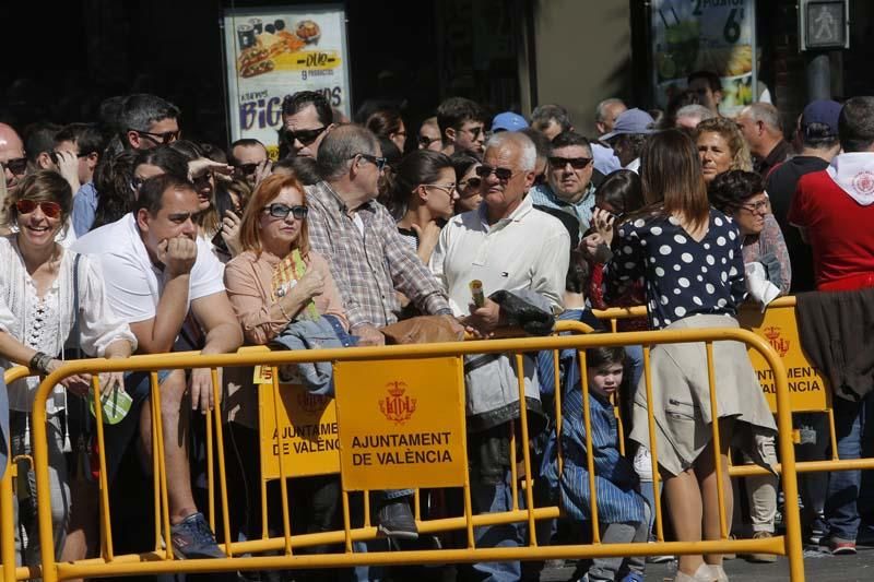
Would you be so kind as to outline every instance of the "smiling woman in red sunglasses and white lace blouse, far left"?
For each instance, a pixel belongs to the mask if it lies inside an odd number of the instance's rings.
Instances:
[[[123,319],[117,317],[107,300],[99,264],[86,256],[64,249],[56,242],[72,211],[72,190],[60,174],[39,170],[19,185],[10,201],[9,222],[14,234],[0,238],[0,365],[10,368],[27,366],[39,375],[48,375],[62,365],[64,341],[71,335],[79,307],[79,336],[70,337],[88,356],[126,358],[137,347],[137,338]],[[74,289],[79,290],[78,297]],[[38,376],[19,380],[0,394],[0,414],[9,414],[12,454],[29,454],[28,418],[33,407]],[[109,394],[121,390],[121,372],[99,376],[101,390]],[[69,432],[64,409],[73,406],[67,392],[86,396],[90,375],[76,375],[61,380],[49,394],[48,463],[51,485],[51,521],[55,548],[60,559],[71,509],[85,512],[78,506],[79,496],[71,501],[70,479],[64,456]],[[66,389],[66,390],[64,390]],[[33,474],[27,471],[27,483]],[[36,501],[35,491],[29,499]],[[72,507],[71,507],[72,504]],[[85,503],[87,504],[87,503]],[[92,508],[94,509],[94,508]],[[96,509],[94,509],[96,511]],[[20,513],[21,514],[21,513]],[[33,522],[22,526],[29,544],[25,547],[27,563],[39,562],[36,508]],[[73,518],[73,523],[78,520]],[[75,527],[71,526],[71,531]]]

